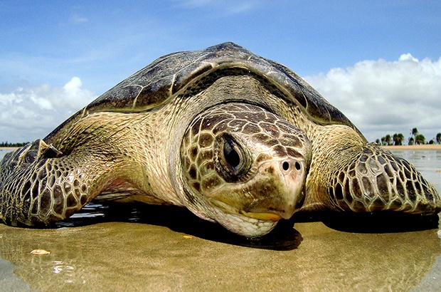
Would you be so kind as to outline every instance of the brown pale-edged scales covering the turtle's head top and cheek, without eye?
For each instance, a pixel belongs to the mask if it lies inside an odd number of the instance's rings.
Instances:
[[[250,161],[244,162],[248,171],[242,177],[222,175],[219,156],[223,155],[220,144],[225,135],[252,147],[257,154],[250,157],[246,153],[243,157]],[[304,160],[307,171],[311,161],[309,148],[304,132],[285,120],[255,105],[228,103],[213,107],[193,120],[181,145],[181,159],[188,184],[207,194],[236,179],[246,181],[255,174],[257,165],[275,157]]]

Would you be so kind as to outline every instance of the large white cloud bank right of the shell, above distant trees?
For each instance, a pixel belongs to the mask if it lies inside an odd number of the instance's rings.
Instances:
[[[368,140],[418,127],[427,140],[441,132],[441,58],[361,61],[305,78]]]

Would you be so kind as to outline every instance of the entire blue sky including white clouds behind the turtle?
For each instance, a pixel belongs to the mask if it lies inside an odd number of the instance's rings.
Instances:
[[[0,1],[0,141],[44,137],[174,51],[285,64],[368,137],[441,132],[441,1]]]

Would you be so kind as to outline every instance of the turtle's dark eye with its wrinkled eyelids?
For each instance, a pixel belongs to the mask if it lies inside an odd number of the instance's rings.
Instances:
[[[240,179],[250,168],[248,153],[230,135],[223,135],[219,146],[218,159],[225,179],[229,181]]]

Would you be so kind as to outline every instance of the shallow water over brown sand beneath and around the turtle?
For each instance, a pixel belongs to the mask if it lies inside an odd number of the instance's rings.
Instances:
[[[441,191],[441,151],[394,152]],[[91,204],[61,228],[0,224],[0,291],[441,289],[437,228],[351,229],[341,220],[284,233],[286,224],[278,231],[287,235],[250,242],[181,208]],[[431,220],[422,224],[436,227]]]

